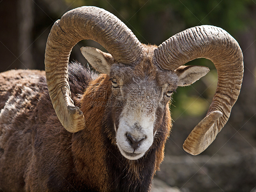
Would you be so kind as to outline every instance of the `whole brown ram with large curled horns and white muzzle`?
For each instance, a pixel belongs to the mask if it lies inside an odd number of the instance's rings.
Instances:
[[[81,48],[99,76],[77,63],[68,67],[72,47],[83,39],[109,52]],[[218,85],[206,117],[183,145],[193,155],[212,143],[239,95],[243,55],[236,40],[204,25],[157,47],[141,44],[103,9],[65,13],[47,40],[45,74],[1,73],[0,188],[150,191],[172,126],[172,92],[206,75],[206,67],[184,66],[201,57],[214,63]]]

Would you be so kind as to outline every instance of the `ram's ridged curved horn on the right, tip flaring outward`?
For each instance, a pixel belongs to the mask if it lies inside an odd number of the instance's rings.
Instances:
[[[192,155],[203,152],[227,123],[243,80],[243,53],[236,40],[214,26],[197,26],[182,31],[155,50],[156,64],[175,70],[196,58],[211,60],[218,72],[218,85],[206,117],[193,129],[183,144]]]

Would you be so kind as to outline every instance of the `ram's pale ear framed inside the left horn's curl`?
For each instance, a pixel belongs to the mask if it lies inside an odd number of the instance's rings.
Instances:
[[[82,47],[80,50],[94,69],[109,75],[111,65],[115,62],[111,54],[93,47]]]

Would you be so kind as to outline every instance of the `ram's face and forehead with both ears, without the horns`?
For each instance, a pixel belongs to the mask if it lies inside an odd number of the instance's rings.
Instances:
[[[148,47],[144,59],[136,64],[117,63],[109,53],[81,48],[90,64],[109,76],[116,144],[121,154],[131,160],[142,157],[152,145],[177,86],[191,84],[209,71],[199,66],[163,71],[153,61],[154,48]]]

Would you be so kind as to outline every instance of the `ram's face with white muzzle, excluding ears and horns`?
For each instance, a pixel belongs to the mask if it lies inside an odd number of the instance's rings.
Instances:
[[[116,144],[128,159],[142,157],[153,143],[178,77],[161,72],[151,60],[114,64],[110,71]]]

